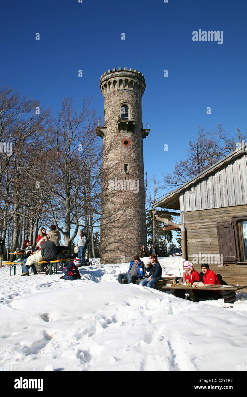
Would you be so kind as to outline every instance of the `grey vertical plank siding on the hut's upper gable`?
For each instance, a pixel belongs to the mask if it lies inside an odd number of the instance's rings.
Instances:
[[[246,154],[180,193],[180,211],[247,204]]]

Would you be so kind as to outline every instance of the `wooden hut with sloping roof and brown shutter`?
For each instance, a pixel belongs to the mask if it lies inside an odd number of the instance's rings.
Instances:
[[[183,258],[197,271],[207,262],[228,285],[247,285],[246,153],[244,145],[153,204],[158,219],[180,210]]]

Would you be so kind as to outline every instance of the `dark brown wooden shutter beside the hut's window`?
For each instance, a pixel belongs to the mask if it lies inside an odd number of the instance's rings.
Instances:
[[[223,263],[236,263],[237,253],[232,222],[217,222],[216,227],[219,252],[220,255],[223,255]]]

